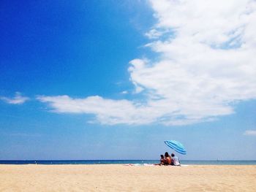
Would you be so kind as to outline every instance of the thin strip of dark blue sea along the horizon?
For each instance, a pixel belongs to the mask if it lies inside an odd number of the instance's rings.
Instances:
[[[0,164],[158,164],[159,160],[0,160]],[[195,161],[184,160],[181,165],[256,165],[256,161]]]

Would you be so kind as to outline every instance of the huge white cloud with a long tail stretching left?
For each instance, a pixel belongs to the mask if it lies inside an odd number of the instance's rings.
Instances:
[[[106,124],[186,125],[256,99],[255,1],[150,1],[158,22],[146,47],[158,58],[130,61],[135,99],[39,96],[56,112],[90,113]],[[145,96],[136,99],[136,94]]]

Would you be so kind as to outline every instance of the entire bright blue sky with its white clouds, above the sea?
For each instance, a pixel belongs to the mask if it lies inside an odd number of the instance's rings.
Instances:
[[[0,159],[255,160],[255,2],[221,7],[1,1]]]

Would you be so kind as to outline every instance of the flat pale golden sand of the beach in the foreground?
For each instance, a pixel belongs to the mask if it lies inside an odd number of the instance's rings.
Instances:
[[[256,166],[0,165],[0,191],[256,191]]]

